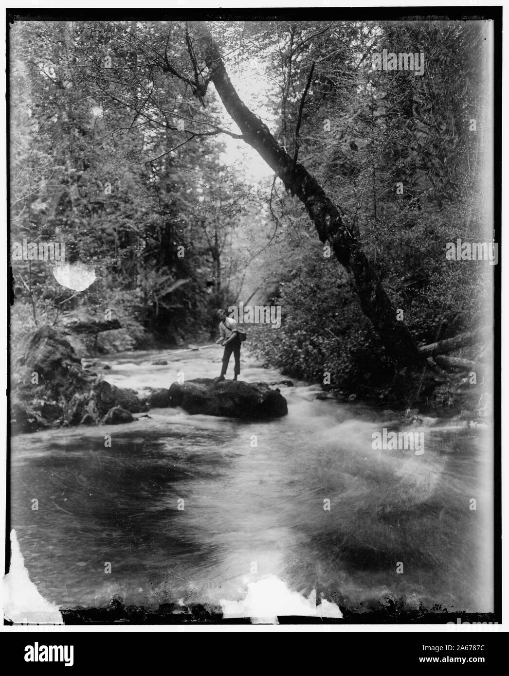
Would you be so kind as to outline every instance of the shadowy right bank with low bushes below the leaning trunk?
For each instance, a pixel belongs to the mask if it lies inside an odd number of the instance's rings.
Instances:
[[[249,347],[283,375],[315,382],[324,399],[359,401],[402,412],[417,410],[425,416],[468,418],[472,423],[493,417],[489,331],[478,343],[460,344],[452,350],[455,357],[428,356],[414,369],[396,368],[389,362],[368,327],[353,333],[349,327],[342,335],[327,331],[319,321],[309,327],[299,324],[298,329],[283,325],[278,331],[251,325]]]

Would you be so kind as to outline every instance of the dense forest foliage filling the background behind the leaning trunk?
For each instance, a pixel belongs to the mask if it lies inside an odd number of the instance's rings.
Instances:
[[[492,237],[489,25],[208,25],[231,76],[256,76],[252,112],[358,233],[414,341],[482,324],[493,268],[446,260],[445,244]],[[11,242],[64,241],[66,264],[96,276],[76,291],[53,262],[14,261],[14,337],[110,310],[122,329],[94,349],[194,342],[215,308],[256,301],[281,306],[280,329],[249,331],[264,361],[320,382],[329,372],[350,391],[383,387],[384,341],[302,203],[270,170],[253,186],[228,164],[225,139],[243,139],[198,33],[11,26]],[[424,72],[374,69],[383,49],[422,53]]]

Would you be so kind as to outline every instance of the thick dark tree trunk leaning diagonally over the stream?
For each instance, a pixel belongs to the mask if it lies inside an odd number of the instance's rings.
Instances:
[[[364,314],[377,331],[387,354],[398,364],[416,365],[422,361],[412,335],[396,311],[377,274],[360,246],[359,234],[347,226],[333,201],[304,166],[297,163],[278,144],[268,127],[241,101],[224,67],[222,55],[208,27],[194,22],[195,38],[203,51],[209,77],[214,82],[226,111],[241,130],[243,140],[251,145],[283,180],[285,188],[297,195],[314,222],[318,237],[329,242],[335,257],[349,273],[352,287]]]

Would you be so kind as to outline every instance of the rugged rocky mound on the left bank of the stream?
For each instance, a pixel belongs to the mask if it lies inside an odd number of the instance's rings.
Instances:
[[[110,385],[84,370],[65,333],[43,326],[13,347],[11,423],[13,431],[32,432],[59,425],[99,425],[147,410],[135,391]],[[123,422],[128,416],[123,415]]]

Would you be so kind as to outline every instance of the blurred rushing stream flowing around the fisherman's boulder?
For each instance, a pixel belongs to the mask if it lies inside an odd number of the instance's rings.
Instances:
[[[110,383],[143,391],[169,387],[178,370],[214,377],[220,354],[176,354],[168,366],[151,365],[157,352],[101,361]],[[244,355],[241,378],[283,379]],[[289,414],[279,420],[168,408],[128,425],[14,437],[11,527],[39,592],[60,608],[113,596],[218,606],[272,575],[351,609],[389,594],[491,612],[487,431],[427,418],[423,454],[372,450],[372,433],[395,428],[397,414],[295,385],[280,386]]]

